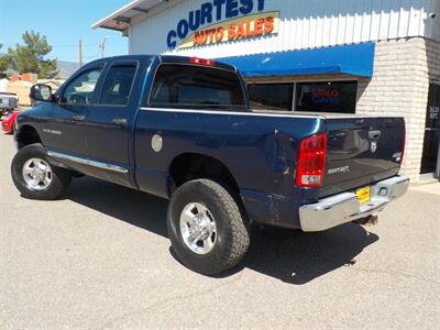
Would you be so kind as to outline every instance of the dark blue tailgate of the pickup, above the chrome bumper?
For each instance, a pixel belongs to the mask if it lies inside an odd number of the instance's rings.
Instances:
[[[321,197],[397,175],[405,147],[403,118],[326,118],[327,160]]]

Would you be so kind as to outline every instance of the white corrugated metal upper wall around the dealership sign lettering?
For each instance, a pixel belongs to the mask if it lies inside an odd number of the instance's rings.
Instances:
[[[408,36],[440,40],[439,0],[265,0],[264,11],[280,12],[278,34],[197,48],[168,48],[168,32],[176,29],[179,20],[188,19],[189,11],[200,9],[204,2],[211,1],[164,1],[151,9],[146,16],[140,14],[133,19],[129,30],[130,53],[166,53],[210,58]],[[430,13],[437,16],[430,19]]]

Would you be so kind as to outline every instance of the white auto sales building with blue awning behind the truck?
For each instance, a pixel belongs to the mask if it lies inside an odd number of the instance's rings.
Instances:
[[[235,65],[255,108],[403,116],[402,174],[440,175],[440,0],[135,0],[94,28]]]

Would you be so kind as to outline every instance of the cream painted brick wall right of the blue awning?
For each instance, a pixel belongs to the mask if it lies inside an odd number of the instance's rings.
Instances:
[[[422,37],[376,44],[372,79],[360,79],[356,113],[404,116],[402,173],[418,179],[430,79],[440,78],[440,43]]]

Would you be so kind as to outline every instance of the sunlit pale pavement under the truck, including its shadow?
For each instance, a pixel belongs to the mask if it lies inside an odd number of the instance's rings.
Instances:
[[[410,190],[375,227],[258,230],[241,267],[210,278],[173,257],[166,201],[91,178],[26,200],[13,153],[1,135],[0,329],[439,328],[437,194]]]

